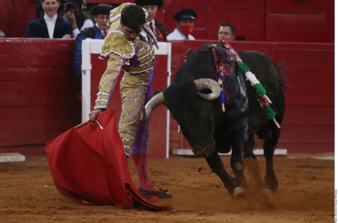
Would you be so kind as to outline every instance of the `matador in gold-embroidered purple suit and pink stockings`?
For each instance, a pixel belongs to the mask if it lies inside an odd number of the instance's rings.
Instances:
[[[146,10],[133,3],[123,3],[111,11],[110,28],[100,55],[108,58],[107,69],[102,74],[94,110],[89,113],[89,119],[94,121],[99,113],[108,108],[118,76],[124,70],[120,82],[122,109],[118,123],[124,154],[134,160],[138,190],[143,196],[172,198],[167,190],[157,189],[149,177],[146,154],[150,119],[140,120],[144,105],[152,98],[154,46],[157,47],[155,35],[145,25],[146,13]],[[137,38],[142,29],[145,29],[150,42]]]

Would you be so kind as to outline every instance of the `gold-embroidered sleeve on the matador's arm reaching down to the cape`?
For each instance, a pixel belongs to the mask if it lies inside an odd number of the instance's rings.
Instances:
[[[118,54],[110,54],[107,62],[107,69],[104,71],[100,80],[99,93],[97,93],[94,109],[107,109],[110,95],[114,90],[118,75],[120,74],[124,63],[125,60]]]

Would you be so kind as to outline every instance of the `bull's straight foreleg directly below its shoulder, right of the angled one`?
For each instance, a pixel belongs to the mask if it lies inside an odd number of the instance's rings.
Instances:
[[[232,143],[232,154],[230,164],[233,172],[235,173],[236,185],[238,187],[246,188],[247,183],[244,178],[244,165],[243,165],[243,149],[244,144],[248,140],[248,123],[246,119],[237,122],[234,128],[235,138]]]

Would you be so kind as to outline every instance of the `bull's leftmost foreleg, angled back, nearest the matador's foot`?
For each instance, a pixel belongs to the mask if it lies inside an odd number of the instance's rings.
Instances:
[[[229,191],[231,195],[234,193],[234,189],[236,188],[235,179],[230,176],[224,168],[223,162],[220,159],[220,155],[217,151],[205,157],[206,162],[208,163],[209,167],[211,168],[212,172],[216,173],[222,180],[225,188]]]

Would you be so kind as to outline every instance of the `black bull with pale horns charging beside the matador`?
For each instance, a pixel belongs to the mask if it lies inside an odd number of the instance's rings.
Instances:
[[[215,89],[220,85],[214,65],[212,49],[216,49],[217,59],[230,67],[229,74],[223,79],[223,89],[230,94],[225,113],[218,100]],[[276,120],[281,123],[284,115],[283,84],[272,59],[258,51],[238,51],[240,58],[265,86],[271,107],[276,112]],[[210,80],[211,79],[211,80]],[[215,84],[216,83],[216,84]],[[215,93],[216,92],[216,93]],[[216,94],[216,98],[215,98]],[[210,43],[199,47],[186,60],[177,72],[171,85],[163,93],[155,95],[145,107],[149,117],[152,110],[164,103],[173,118],[182,128],[183,135],[193,152],[203,155],[213,172],[222,180],[230,194],[241,194],[247,182],[243,174],[244,158],[253,153],[254,135],[264,138],[266,158],[265,183],[269,189],[276,190],[278,181],[273,170],[273,153],[278,142],[280,129],[268,120],[256,94],[244,74],[238,69],[234,54],[219,44]],[[218,153],[228,153],[232,149],[231,168],[235,178],[224,169]],[[258,174],[259,187],[264,188]],[[237,191],[238,190],[238,191]]]

